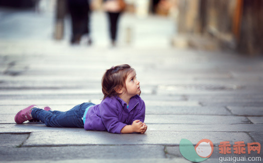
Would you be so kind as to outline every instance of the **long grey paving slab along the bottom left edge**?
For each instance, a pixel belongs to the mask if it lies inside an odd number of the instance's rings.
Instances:
[[[30,153],[30,154],[29,154]],[[0,161],[165,158],[163,145],[0,147]]]

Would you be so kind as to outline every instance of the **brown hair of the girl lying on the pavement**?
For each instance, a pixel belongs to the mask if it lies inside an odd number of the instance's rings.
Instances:
[[[107,69],[101,80],[103,99],[118,95],[117,91],[123,87],[126,89],[125,80],[132,71],[135,69],[128,64],[120,64]]]

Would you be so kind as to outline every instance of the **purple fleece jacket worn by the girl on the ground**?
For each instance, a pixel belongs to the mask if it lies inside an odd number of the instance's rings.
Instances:
[[[100,104],[91,106],[86,115],[86,130],[107,130],[121,133],[125,125],[134,120],[144,122],[145,104],[139,95],[131,97],[129,107],[119,96],[106,97]]]

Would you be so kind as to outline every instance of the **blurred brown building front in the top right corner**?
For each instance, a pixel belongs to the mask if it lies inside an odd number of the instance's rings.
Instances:
[[[263,53],[263,0],[177,0],[177,4],[175,46]]]

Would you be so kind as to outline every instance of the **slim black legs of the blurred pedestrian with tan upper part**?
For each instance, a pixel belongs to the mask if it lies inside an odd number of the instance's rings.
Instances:
[[[111,43],[113,46],[116,45],[116,37],[118,32],[118,20],[121,12],[107,12],[109,18],[109,28]]]

